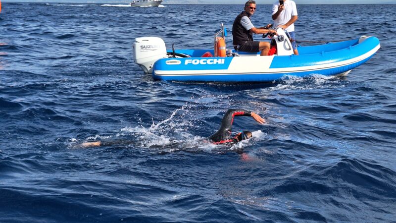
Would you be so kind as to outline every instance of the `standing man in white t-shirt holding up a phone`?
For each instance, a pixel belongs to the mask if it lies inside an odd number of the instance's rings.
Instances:
[[[283,4],[282,4],[283,3]],[[274,26],[279,26],[289,32],[293,39],[292,47],[295,55],[298,55],[294,32],[294,22],[297,21],[297,7],[293,0],[280,0],[272,5],[272,19]]]

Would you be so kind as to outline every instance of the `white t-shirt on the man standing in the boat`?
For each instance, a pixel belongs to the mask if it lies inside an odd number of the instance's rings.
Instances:
[[[285,0],[284,3],[285,9],[279,14],[278,18],[274,20],[274,27],[277,25],[283,25],[289,22],[292,16],[297,15],[297,6],[296,2],[293,0]],[[275,14],[278,11],[279,1],[275,2],[272,5],[272,14]],[[294,23],[286,28],[288,32],[294,32]]]

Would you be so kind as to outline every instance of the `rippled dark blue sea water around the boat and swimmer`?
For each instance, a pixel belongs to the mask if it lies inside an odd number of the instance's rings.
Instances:
[[[3,2],[0,222],[395,222],[396,5],[297,2],[297,40],[380,39],[346,78],[165,82],[132,60],[143,36],[211,48],[242,9]],[[202,142],[229,108],[267,124]],[[119,143],[76,146],[96,140]]]

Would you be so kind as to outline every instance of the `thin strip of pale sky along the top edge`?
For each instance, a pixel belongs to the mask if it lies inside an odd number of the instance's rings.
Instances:
[[[1,0],[3,2],[81,2],[128,3],[130,0]],[[164,0],[163,4],[244,4],[247,0]],[[276,0],[256,0],[257,4],[273,4]],[[294,0],[297,4],[391,4],[396,0]]]

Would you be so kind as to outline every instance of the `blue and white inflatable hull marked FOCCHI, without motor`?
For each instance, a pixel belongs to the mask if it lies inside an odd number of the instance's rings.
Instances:
[[[363,64],[380,48],[375,37],[299,47],[295,56],[200,57],[213,50],[180,50],[188,58],[163,58],[154,63],[153,78],[168,81],[272,82],[285,75],[343,75]]]

